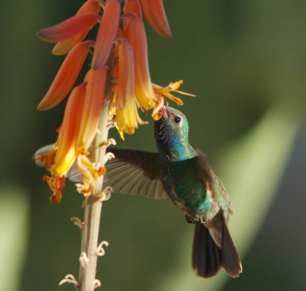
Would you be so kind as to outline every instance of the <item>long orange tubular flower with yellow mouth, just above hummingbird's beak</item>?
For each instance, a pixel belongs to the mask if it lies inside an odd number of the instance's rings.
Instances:
[[[140,108],[147,112],[157,100],[152,88],[147,40],[142,20],[137,16],[132,16],[123,36],[131,43],[135,57],[135,94]]]

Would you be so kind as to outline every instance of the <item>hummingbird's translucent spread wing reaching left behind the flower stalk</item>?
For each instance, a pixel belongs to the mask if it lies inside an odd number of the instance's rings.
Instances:
[[[40,148],[34,154],[34,158],[47,153],[52,146],[50,144]],[[107,151],[114,153],[115,158],[106,163],[104,186],[111,186],[114,192],[121,194],[141,195],[154,199],[168,197],[162,184],[157,153],[111,146]],[[43,167],[42,163],[37,165]],[[73,182],[82,182],[76,163],[73,163],[66,177]]]

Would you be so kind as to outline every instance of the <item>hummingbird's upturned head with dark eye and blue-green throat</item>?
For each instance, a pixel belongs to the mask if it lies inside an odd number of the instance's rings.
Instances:
[[[162,117],[154,122],[154,136],[159,151],[183,157],[188,144],[188,121],[179,110],[163,106]]]

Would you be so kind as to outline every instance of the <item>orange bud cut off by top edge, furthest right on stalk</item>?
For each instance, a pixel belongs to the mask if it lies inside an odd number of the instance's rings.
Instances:
[[[171,31],[162,0],[140,0],[145,18],[157,33],[171,37]]]

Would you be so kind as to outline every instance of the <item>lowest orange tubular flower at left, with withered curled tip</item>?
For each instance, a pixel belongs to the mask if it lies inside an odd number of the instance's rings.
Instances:
[[[86,93],[86,84],[75,87],[67,101],[63,123],[55,145],[48,153],[36,156],[36,162],[49,163],[52,177],[44,176],[50,189],[54,191],[50,197],[58,203],[62,198],[61,190],[65,187],[65,175],[75,160],[75,141],[80,129],[80,116]]]

